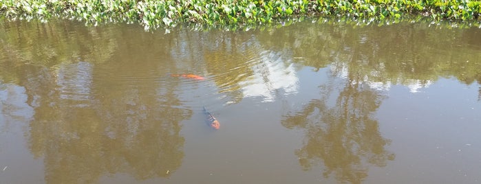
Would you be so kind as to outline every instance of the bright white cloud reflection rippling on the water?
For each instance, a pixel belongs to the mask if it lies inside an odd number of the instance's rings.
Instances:
[[[253,66],[254,75],[246,82],[241,82],[244,97],[263,97],[264,102],[275,100],[275,93],[283,89],[284,93],[297,93],[298,81],[292,64],[286,65],[275,54],[261,54],[258,65]]]

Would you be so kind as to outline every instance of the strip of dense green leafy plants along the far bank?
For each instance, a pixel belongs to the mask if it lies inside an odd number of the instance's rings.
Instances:
[[[139,22],[145,27],[173,27],[178,23],[204,25],[268,24],[299,16],[350,16],[354,19],[402,19],[429,16],[436,20],[479,20],[481,2],[469,0],[1,0],[0,12],[14,18],[52,16],[87,23]]]

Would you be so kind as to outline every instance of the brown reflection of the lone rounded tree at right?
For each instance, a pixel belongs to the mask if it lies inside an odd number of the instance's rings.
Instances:
[[[282,121],[286,128],[305,130],[304,146],[295,152],[299,164],[310,170],[323,162],[324,177],[334,173],[339,182],[361,183],[368,164],[383,167],[395,157],[385,150],[389,140],[381,137],[372,117],[383,96],[367,85],[346,82],[336,104],[329,107],[332,86],[321,89],[321,99],[311,100],[302,111],[286,115]]]

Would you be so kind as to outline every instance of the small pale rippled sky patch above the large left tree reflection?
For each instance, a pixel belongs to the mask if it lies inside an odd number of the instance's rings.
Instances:
[[[61,64],[58,67],[56,83],[61,99],[89,100],[92,84],[92,64],[89,62]],[[87,104],[79,104],[79,106],[87,106]]]

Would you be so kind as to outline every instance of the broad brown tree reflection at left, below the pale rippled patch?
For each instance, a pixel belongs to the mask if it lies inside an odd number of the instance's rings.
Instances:
[[[167,177],[180,167],[184,138],[179,123],[191,111],[158,104],[180,106],[176,91],[166,90],[156,100],[156,87],[93,87],[99,96],[83,102],[92,107],[85,108],[76,99],[59,100],[64,91],[56,90],[61,88],[52,80],[35,82],[45,89],[32,89],[40,93],[30,122],[30,149],[44,157],[46,183],[97,183],[107,173]]]

